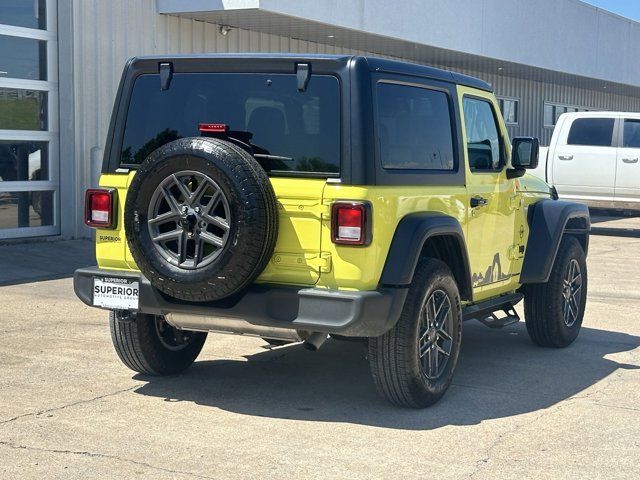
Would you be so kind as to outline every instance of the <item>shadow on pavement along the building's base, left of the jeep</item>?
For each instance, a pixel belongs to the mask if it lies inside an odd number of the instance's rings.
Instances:
[[[0,244],[0,286],[72,277],[96,264],[94,252],[90,240]]]

